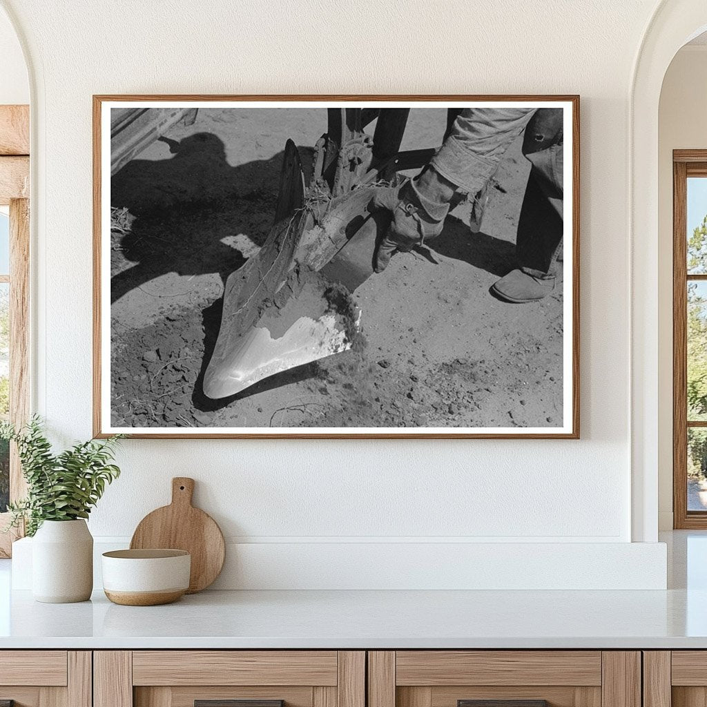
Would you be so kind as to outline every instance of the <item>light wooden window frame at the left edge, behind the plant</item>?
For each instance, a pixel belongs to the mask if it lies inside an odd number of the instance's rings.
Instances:
[[[0,106],[0,206],[10,207],[10,421],[23,425],[29,417],[30,305],[30,111],[27,105]],[[17,450],[10,450],[10,500],[26,493]],[[1,532],[10,522],[0,513],[0,557],[11,556],[12,542],[23,529]]]

